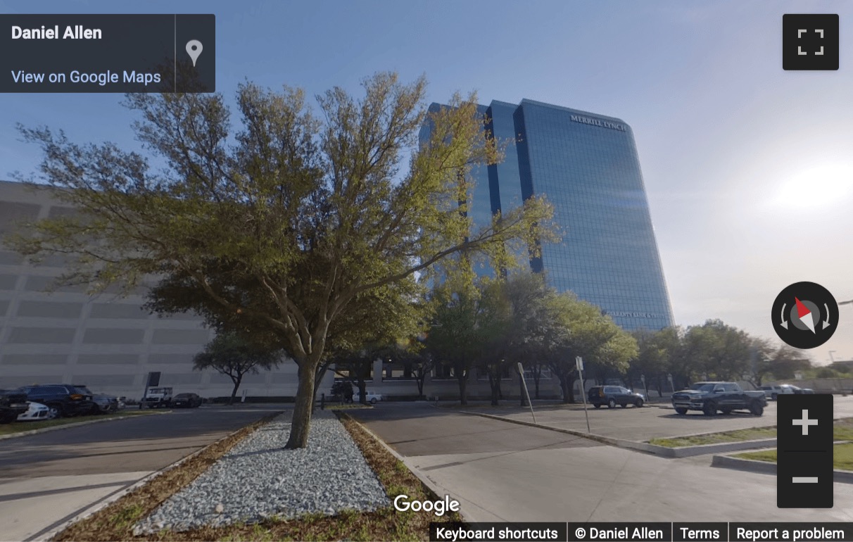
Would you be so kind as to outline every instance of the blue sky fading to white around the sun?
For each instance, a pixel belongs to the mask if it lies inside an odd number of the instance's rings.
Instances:
[[[626,120],[635,133],[677,323],[722,318],[775,339],[775,295],[853,299],[853,3],[314,0],[9,2],[3,13],[213,13],[217,86],[310,95],[424,73],[429,101],[476,90]],[[784,72],[781,18],[840,15],[838,72]],[[15,122],[136,145],[120,95],[0,96],[0,177],[32,172]],[[811,351],[853,358],[853,308]]]

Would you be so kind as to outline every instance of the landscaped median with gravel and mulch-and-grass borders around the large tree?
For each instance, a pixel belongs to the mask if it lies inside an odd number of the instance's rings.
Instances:
[[[253,423],[168,469],[55,540],[428,539],[455,512],[399,511],[440,500],[345,414],[316,411],[309,445],[284,450],[289,412]]]

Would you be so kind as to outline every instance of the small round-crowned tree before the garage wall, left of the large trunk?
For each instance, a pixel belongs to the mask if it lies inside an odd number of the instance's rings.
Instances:
[[[247,341],[239,335],[217,335],[205,347],[204,352],[195,354],[194,370],[212,369],[228,376],[234,383],[228,404],[234,403],[237,389],[243,382],[243,376],[256,375],[258,370],[270,370],[281,363],[281,352],[270,351],[267,348]]]

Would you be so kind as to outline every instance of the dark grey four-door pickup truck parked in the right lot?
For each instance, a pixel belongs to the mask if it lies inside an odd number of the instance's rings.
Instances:
[[[762,390],[747,392],[736,382],[696,382],[690,389],[672,394],[672,406],[679,414],[703,411],[705,416],[716,416],[717,411],[746,410],[753,416],[764,413],[767,398]]]

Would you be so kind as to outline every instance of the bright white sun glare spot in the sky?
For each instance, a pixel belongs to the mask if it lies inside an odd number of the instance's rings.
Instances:
[[[796,172],[771,196],[774,207],[836,206],[853,193],[853,164],[826,164]]]

